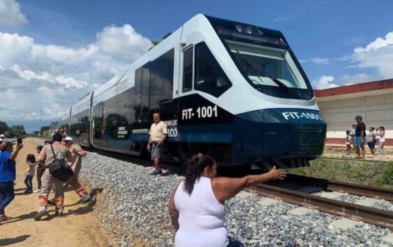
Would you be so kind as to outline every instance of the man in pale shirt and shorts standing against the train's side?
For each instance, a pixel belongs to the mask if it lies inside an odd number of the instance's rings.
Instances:
[[[163,156],[164,141],[168,138],[168,130],[165,122],[161,121],[161,115],[158,112],[153,114],[154,123],[149,130],[149,143],[147,150],[151,152],[151,160],[154,161],[154,171],[150,174],[153,176],[163,174],[161,171],[161,159]]]

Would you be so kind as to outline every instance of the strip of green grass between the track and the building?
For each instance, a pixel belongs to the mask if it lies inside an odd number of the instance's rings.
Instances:
[[[393,162],[317,159],[311,167],[290,169],[290,174],[393,189]]]

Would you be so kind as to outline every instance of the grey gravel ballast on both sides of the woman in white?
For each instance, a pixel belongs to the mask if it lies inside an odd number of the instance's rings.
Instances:
[[[132,162],[89,153],[81,177],[98,194],[94,214],[119,246],[172,246],[175,232],[168,216],[177,174],[149,176],[151,169]],[[241,192],[225,204],[230,236],[245,246],[390,246],[390,230],[350,221],[280,200]],[[344,223],[343,223],[344,222]]]

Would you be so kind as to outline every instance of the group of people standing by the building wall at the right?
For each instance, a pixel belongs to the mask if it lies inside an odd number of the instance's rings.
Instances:
[[[354,151],[357,154],[357,158],[364,159],[366,155],[366,143],[371,151],[371,157],[376,156],[376,143],[378,139],[378,151],[381,157],[385,157],[385,127],[380,126],[378,128],[369,127],[366,129],[366,124],[362,120],[361,115],[355,116],[356,124],[352,125],[352,129],[346,131],[346,151],[349,155]]]

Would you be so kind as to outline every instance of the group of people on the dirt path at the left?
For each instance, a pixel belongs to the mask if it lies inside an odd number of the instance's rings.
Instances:
[[[15,159],[23,148],[22,143],[17,143],[15,148],[12,142],[0,140],[0,223],[11,218],[6,215],[5,209],[15,198],[14,181],[16,179]],[[63,216],[64,190],[70,187],[75,190],[82,203],[89,202],[90,195],[78,182],[78,175],[82,167],[82,157],[87,153],[79,145],[73,143],[71,136],[66,136],[63,129],[52,135],[52,140],[44,142],[44,146],[36,147],[37,157],[28,154],[26,157],[26,172],[24,173],[25,194],[32,192],[38,195],[38,212],[35,220],[40,220],[47,215],[47,205],[55,206],[55,215]],[[20,165],[18,164],[18,167]],[[57,176],[56,169],[64,167],[70,170],[66,180],[64,176]],[[57,170],[59,171],[59,170]],[[33,189],[33,178],[36,175],[37,189]],[[54,199],[49,200],[50,192],[54,192]]]

